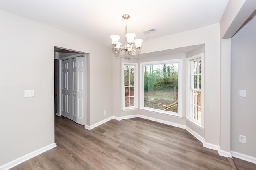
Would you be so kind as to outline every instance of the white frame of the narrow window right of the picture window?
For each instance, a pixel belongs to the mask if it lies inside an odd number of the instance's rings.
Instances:
[[[193,68],[192,64],[195,60],[201,59],[201,90],[196,90],[191,88],[193,81]],[[187,94],[186,94],[186,119],[196,125],[200,129],[204,129],[204,53],[200,53],[198,55],[194,55],[192,57],[187,58]],[[192,91],[200,91],[201,92],[201,122],[194,119],[193,112],[192,112],[192,98],[193,94]]]

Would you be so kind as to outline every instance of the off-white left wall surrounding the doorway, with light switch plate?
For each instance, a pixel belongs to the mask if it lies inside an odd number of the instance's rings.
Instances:
[[[2,10],[0,25],[0,166],[54,143],[54,45],[90,53],[89,125],[112,116],[109,47]]]

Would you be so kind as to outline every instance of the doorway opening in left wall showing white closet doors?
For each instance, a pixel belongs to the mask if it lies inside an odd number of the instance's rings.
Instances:
[[[86,53],[54,47],[54,115],[86,124]]]

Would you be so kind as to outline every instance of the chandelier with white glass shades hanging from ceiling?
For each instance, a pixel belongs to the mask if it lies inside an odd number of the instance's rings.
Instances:
[[[125,19],[125,44],[124,47],[120,47],[122,44],[119,42],[120,36],[119,35],[111,35],[110,38],[112,39],[112,45],[114,46],[114,50],[116,53],[120,53],[120,51],[124,50],[128,52],[130,55],[131,51],[140,51],[142,39],[134,39],[136,36],[135,33],[127,33],[127,25],[126,20],[130,18],[128,14],[124,14],[123,18]],[[133,45],[135,43],[136,49],[133,49]]]

